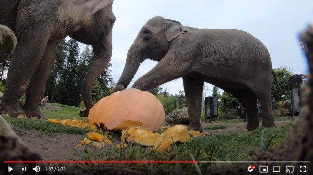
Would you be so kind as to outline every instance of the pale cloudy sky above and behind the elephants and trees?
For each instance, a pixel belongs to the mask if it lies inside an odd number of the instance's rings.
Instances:
[[[308,74],[299,33],[313,23],[310,0],[115,0],[111,78],[120,78],[129,47],[141,27],[155,16],[181,22],[183,26],[209,29],[239,29],[252,34],[268,48],[272,67],[287,67],[294,74]],[[85,48],[80,44],[80,50]],[[129,87],[157,62],[145,60]],[[212,95],[213,85],[205,83]],[[161,85],[170,94],[183,90],[182,78]],[[222,92],[222,91],[220,91]]]

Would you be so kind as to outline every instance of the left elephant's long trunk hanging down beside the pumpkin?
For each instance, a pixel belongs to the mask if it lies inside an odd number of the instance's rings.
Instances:
[[[87,117],[90,109],[93,107],[93,102],[91,98],[91,89],[92,85],[96,81],[97,78],[103,73],[105,68],[110,62],[110,58],[112,56],[112,42],[106,43],[101,46],[100,49],[93,47],[93,51],[95,52],[94,59],[92,64],[83,79],[82,87],[81,87],[81,95],[85,104],[84,111],[79,112],[79,116]]]

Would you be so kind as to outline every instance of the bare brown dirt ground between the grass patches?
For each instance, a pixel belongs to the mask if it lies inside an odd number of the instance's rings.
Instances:
[[[276,127],[285,126],[293,121],[277,121]],[[209,136],[219,134],[231,134],[235,132],[245,131],[246,123],[202,123],[202,126],[206,125],[227,125],[228,128],[209,130]],[[260,122],[261,125],[261,122]],[[66,134],[66,133],[52,133],[47,134],[35,129],[23,129],[13,125],[10,125],[18,136],[29,146],[33,151],[38,152],[42,159],[45,161],[66,161],[66,160],[80,160],[77,159],[79,155],[82,155],[84,146],[77,147],[77,144],[82,138],[87,137],[86,134]],[[248,132],[248,131],[246,131]],[[110,135],[110,134],[109,134]],[[112,140],[112,145],[117,145],[120,142],[119,139]],[[88,145],[92,147],[91,145]],[[79,154],[80,153],[80,154]]]

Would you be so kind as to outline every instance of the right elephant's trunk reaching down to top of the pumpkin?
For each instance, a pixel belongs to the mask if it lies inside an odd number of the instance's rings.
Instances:
[[[121,77],[119,78],[117,85],[122,85],[126,88],[134,78],[136,72],[139,69],[142,60],[143,49],[137,44],[133,44],[127,53],[126,64]],[[118,91],[115,88],[115,91]]]

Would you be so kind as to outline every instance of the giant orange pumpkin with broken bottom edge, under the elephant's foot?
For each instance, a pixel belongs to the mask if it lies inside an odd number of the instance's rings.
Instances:
[[[144,125],[158,131],[164,123],[162,103],[150,92],[125,89],[99,100],[90,109],[89,124],[104,124],[108,130],[124,130]]]

